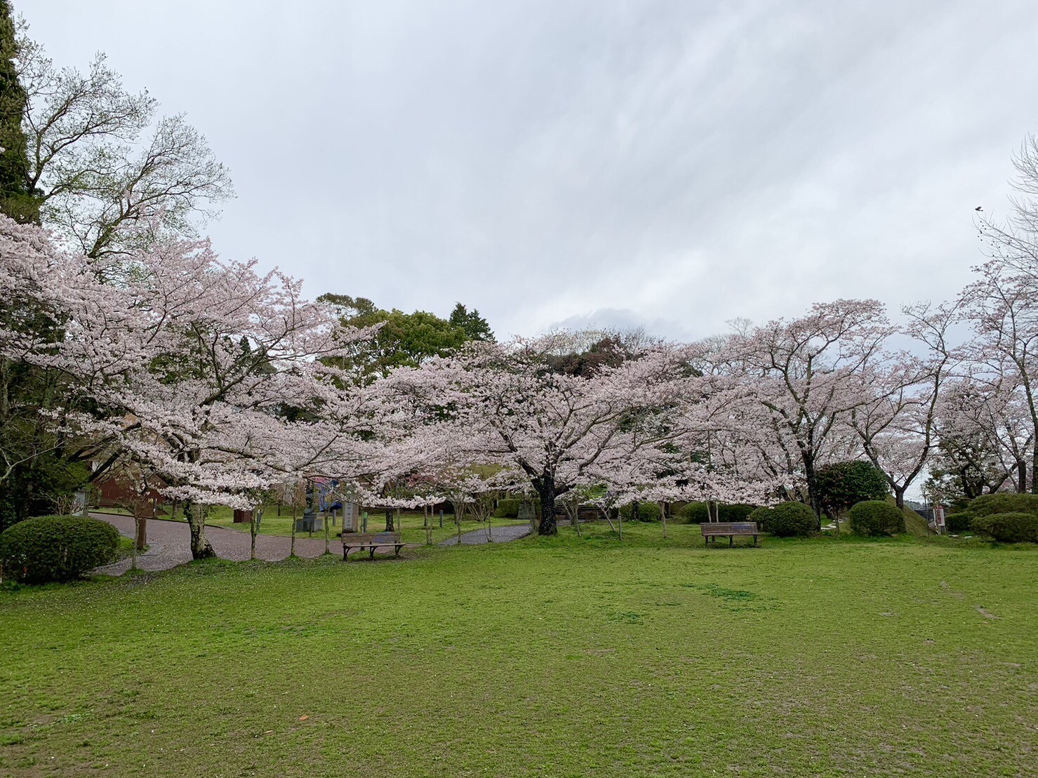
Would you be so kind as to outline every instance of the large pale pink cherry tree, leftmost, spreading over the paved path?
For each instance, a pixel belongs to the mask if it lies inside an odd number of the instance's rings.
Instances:
[[[267,454],[286,411],[316,414],[328,396],[333,368],[320,358],[370,333],[306,302],[299,281],[221,260],[206,241],[120,258],[113,283],[101,259],[62,253],[35,228],[0,229],[21,249],[4,253],[0,273],[15,295],[56,311],[63,331],[54,343],[7,328],[5,352],[73,377],[90,412],[66,422],[145,464],[185,501],[192,554],[211,555],[206,506],[254,506],[276,476]]]

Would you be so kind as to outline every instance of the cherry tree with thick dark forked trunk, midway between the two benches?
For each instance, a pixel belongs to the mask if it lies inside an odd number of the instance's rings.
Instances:
[[[662,436],[657,412],[681,391],[678,350],[653,346],[616,366],[566,371],[559,358],[586,333],[508,343],[473,342],[457,355],[398,370],[397,390],[425,402],[456,457],[521,472],[541,503],[541,534],[554,534],[555,501],[609,457],[634,456]]]

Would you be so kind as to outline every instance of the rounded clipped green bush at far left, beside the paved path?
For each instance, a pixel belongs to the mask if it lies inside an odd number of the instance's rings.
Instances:
[[[70,581],[115,558],[119,532],[97,519],[44,516],[0,533],[4,576],[23,583]]]

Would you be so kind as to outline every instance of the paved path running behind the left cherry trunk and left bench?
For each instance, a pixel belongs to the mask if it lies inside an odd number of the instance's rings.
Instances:
[[[116,516],[114,513],[91,513],[94,519],[101,519],[114,526],[127,537],[133,537],[133,519],[129,516]],[[492,531],[494,543],[504,543],[516,540],[529,534],[529,527],[525,525],[499,527]],[[249,558],[249,548],[251,538],[248,532],[240,532],[224,527],[206,527],[206,537],[213,546],[213,551],[221,559],[233,559],[243,561]],[[440,544],[441,546],[453,546],[458,541],[457,537]],[[477,546],[487,543],[485,530],[477,529],[465,532],[461,536],[462,545]],[[191,561],[191,532],[185,522],[174,522],[166,519],[147,520],[147,545],[148,549],[143,554],[137,555],[137,566],[145,571],[170,569],[177,564],[185,564]],[[280,535],[257,535],[256,536],[256,557],[268,562],[277,562],[289,557],[292,548],[292,538]],[[328,549],[332,554],[343,554],[343,541],[338,538],[331,538],[328,541]],[[313,558],[321,556],[325,551],[324,537],[296,537],[296,556]],[[380,552],[391,553],[392,547],[383,548]],[[121,559],[113,564],[98,567],[94,573],[106,576],[120,576],[130,569],[130,558]]]

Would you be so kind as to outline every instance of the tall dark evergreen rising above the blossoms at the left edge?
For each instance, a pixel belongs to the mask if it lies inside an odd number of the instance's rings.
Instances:
[[[20,222],[39,223],[39,202],[29,191],[25,116],[28,96],[18,80],[18,43],[9,0],[0,0],[0,212]]]

